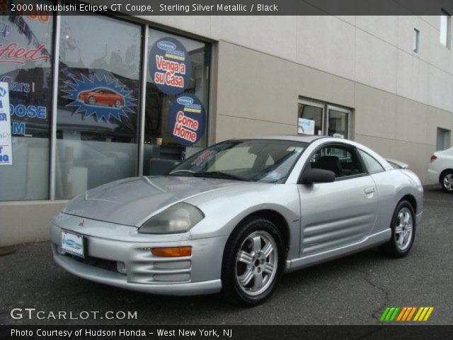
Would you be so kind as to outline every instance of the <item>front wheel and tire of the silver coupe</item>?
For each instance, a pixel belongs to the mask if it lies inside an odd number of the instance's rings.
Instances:
[[[267,300],[282,274],[284,249],[282,235],[273,222],[251,217],[241,223],[225,246],[224,297],[247,306]]]

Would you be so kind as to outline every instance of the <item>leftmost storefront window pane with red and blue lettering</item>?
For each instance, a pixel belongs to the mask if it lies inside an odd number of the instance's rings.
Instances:
[[[12,147],[12,165],[0,164],[0,200],[43,200],[49,198],[53,17],[9,14],[0,9],[0,82],[9,89]]]

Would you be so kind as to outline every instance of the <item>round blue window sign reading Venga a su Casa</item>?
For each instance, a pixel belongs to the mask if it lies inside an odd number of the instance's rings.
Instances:
[[[159,91],[169,96],[187,89],[192,68],[183,44],[174,38],[156,41],[149,52],[149,74]]]

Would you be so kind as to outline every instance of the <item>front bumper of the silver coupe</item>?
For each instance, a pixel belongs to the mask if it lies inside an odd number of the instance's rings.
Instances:
[[[75,217],[74,217],[75,218]],[[73,220],[74,218],[69,218]],[[80,220],[80,217],[76,217]],[[52,254],[55,262],[69,273],[98,283],[144,293],[163,295],[201,295],[217,293],[226,237],[162,241],[151,234],[138,234],[136,228],[86,220],[96,228],[51,227]],[[67,224],[67,223],[64,223]],[[74,224],[73,224],[74,225]],[[110,226],[109,226],[110,225]],[[115,229],[115,239],[107,238],[107,229]],[[62,229],[77,232],[86,239],[86,256],[79,259],[61,254]],[[105,237],[101,234],[105,233]],[[118,237],[124,234],[124,237]],[[192,255],[159,257],[151,254],[156,246],[192,246]],[[126,273],[119,273],[117,262],[125,263]]]

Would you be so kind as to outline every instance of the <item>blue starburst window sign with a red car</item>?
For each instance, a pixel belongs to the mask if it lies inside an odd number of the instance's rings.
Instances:
[[[93,115],[96,120],[108,122],[113,117],[121,121],[121,116],[127,118],[127,113],[135,113],[132,106],[137,106],[137,99],[118,79],[108,81],[96,74],[90,79],[81,74],[80,80],[73,78],[65,83],[70,89],[62,90],[67,93],[63,98],[72,100],[67,106],[77,108],[74,113],[84,113],[84,118]]]

